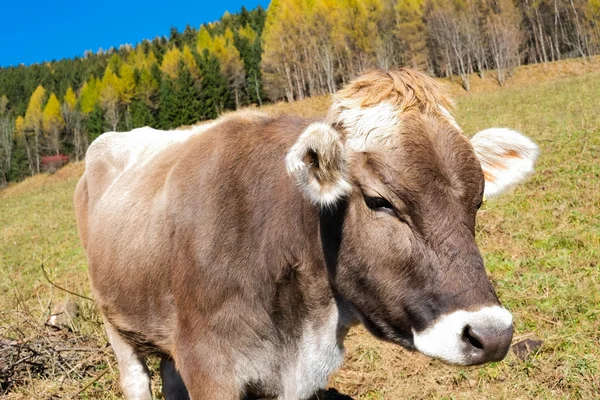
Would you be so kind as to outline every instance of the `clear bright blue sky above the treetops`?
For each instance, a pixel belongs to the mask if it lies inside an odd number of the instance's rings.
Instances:
[[[0,8],[0,66],[83,56],[120,44],[169,36],[269,0],[5,0]]]

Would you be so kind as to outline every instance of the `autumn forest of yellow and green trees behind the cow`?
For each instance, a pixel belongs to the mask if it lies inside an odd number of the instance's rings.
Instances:
[[[326,95],[370,68],[503,85],[600,53],[600,0],[272,0],[81,57],[0,68],[0,187],[81,160],[106,131],[173,129]]]

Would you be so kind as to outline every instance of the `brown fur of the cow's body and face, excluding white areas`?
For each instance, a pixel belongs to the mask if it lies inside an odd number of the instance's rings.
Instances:
[[[75,206],[98,306],[141,352],[172,357],[192,398],[282,395],[302,326],[324,324],[331,304],[408,348],[411,328],[498,304],[474,241],[483,175],[440,123],[439,88],[373,72],[336,98],[391,100],[406,118],[389,146],[350,156],[352,191],[329,211],[285,171],[312,121],[230,115],[120,175],[123,160],[88,157]]]

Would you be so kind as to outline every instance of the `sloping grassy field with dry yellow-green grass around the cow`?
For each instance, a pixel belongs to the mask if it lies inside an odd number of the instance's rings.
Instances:
[[[347,339],[346,362],[332,388],[353,399],[600,397],[598,64],[581,64],[583,72],[569,62],[518,70],[500,89],[490,76],[474,78],[468,95],[451,86],[467,134],[507,126],[540,145],[536,175],[482,207],[477,239],[515,317],[515,341],[540,340],[542,346],[523,359],[511,353],[500,363],[458,368],[378,342],[358,328]],[[266,110],[313,115],[327,104],[317,98]],[[73,164],[0,192],[0,370],[19,361],[7,356],[19,343],[25,350],[41,346],[40,354],[24,350],[21,358],[54,362],[15,365],[21,381],[12,384],[8,398],[120,396],[116,363],[93,303],[54,288],[40,268],[43,262],[57,285],[90,295],[71,201],[82,171]],[[44,327],[50,310],[66,299],[80,306],[73,332]],[[65,340],[79,343],[74,346],[80,351],[63,355]],[[10,384],[1,376],[0,383],[3,389]],[[158,396],[157,379],[154,384]]]

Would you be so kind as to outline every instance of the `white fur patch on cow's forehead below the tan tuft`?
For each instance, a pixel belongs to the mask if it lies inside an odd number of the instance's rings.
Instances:
[[[371,107],[340,106],[336,117],[346,129],[346,145],[353,151],[366,151],[385,143],[398,132],[400,113],[397,106],[379,103]]]

